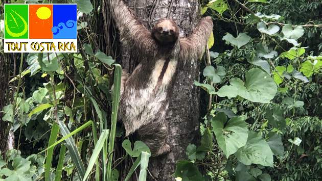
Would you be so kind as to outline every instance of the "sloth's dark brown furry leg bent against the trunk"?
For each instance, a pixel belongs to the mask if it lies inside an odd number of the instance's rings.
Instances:
[[[170,146],[166,143],[168,130],[163,122],[144,125],[137,133],[141,141],[150,148],[152,157],[166,154],[170,151]]]

